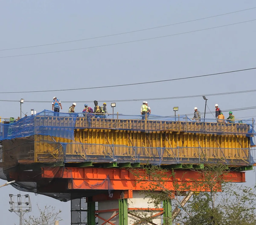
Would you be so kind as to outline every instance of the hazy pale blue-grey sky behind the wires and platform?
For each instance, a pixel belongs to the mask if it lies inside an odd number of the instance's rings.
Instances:
[[[208,16],[255,7],[255,1],[1,1],[0,49],[59,43],[164,26]],[[256,19],[256,9],[237,12],[189,23],[133,32],[118,36],[97,38],[72,43],[0,51],[2,118],[20,114],[20,98],[25,99],[22,112],[30,109],[51,110],[53,96],[62,101],[67,112],[71,103],[78,103],[76,112],[84,103],[98,100],[109,104],[116,99],[148,99],[187,95],[206,95],[255,89],[255,70],[220,76],[167,81],[148,85],[73,90],[45,93],[15,93],[86,88],[166,80],[253,68],[255,64],[256,21],[209,29],[189,34],[137,41],[78,51],[15,55],[63,51],[74,48],[109,45],[125,41],[147,39],[223,26]],[[209,96],[209,109],[218,103],[221,110],[255,106],[255,92],[234,95]],[[5,101],[4,101],[5,100]],[[17,101],[17,102],[11,102]],[[27,102],[34,101],[34,102]],[[41,101],[46,101],[42,103]],[[66,101],[66,102],[65,102]],[[202,97],[148,101],[152,114],[172,115],[172,107],[179,106],[179,114],[204,111]],[[140,114],[141,101],[118,102],[115,112]],[[207,109],[206,111],[209,111]],[[110,110],[111,111],[111,110]],[[256,117],[255,109],[233,112],[236,118]],[[211,114],[209,118],[213,119]],[[226,113],[227,117],[228,114]],[[253,185],[254,172],[246,178]],[[0,184],[5,181],[1,180]],[[9,194],[17,194],[12,187],[1,188],[1,221],[18,223],[18,216],[9,213]],[[30,194],[36,213],[36,204],[56,206],[63,211],[62,218],[70,223],[70,203],[61,203],[44,196]]]

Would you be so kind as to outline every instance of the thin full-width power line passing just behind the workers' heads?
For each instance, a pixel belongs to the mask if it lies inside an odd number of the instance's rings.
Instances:
[[[137,102],[137,101],[159,101],[159,100],[167,100],[167,99],[180,99],[180,98],[195,98],[195,97],[202,97],[204,96],[218,96],[218,95],[233,95],[233,94],[243,94],[243,93],[251,93],[255,92],[256,89],[254,90],[241,90],[241,91],[231,91],[231,92],[223,92],[223,93],[214,93],[214,94],[201,94],[201,95],[187,95],[187,96],[174,96],[174,97],[162,97],[162,98],[137,98],[137,99],[114,99],[114,100],[99,100],[98,102]],[[20,102],[19,100],[6,100],[6,99],[0,99],[0,102]],[[47,103],[51,101],[26,101],[26,102],[33,102],[33,103]],[[73,103],[73,101],[62,101],[62,103]],[[75,101],[77,103],[92,103],[94,102],[93,100],[88,101]]]

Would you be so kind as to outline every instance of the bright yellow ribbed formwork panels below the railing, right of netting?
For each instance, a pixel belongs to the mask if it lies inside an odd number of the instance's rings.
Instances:
[[[117,130],[79,130],[81,143],[95,145],[93,155],[111,155],[111,149],[102,145],[113,145],[115,155],[129,155],[127,146],[138,147],[137,153],[148,157],[158,156],[157,148],[165,148],[163,157],[206,158],[246,160],[249,154],[249,139],[245,136],[220,136],[205,134],[178,134],[177,132],[130,132]],[[113,147],[114,148],[114,147]],[[179,148],[179,153],[178,153]],[[88,152],[90,155],[90,152]],[[131,154],[131,153],[130,153]]]

